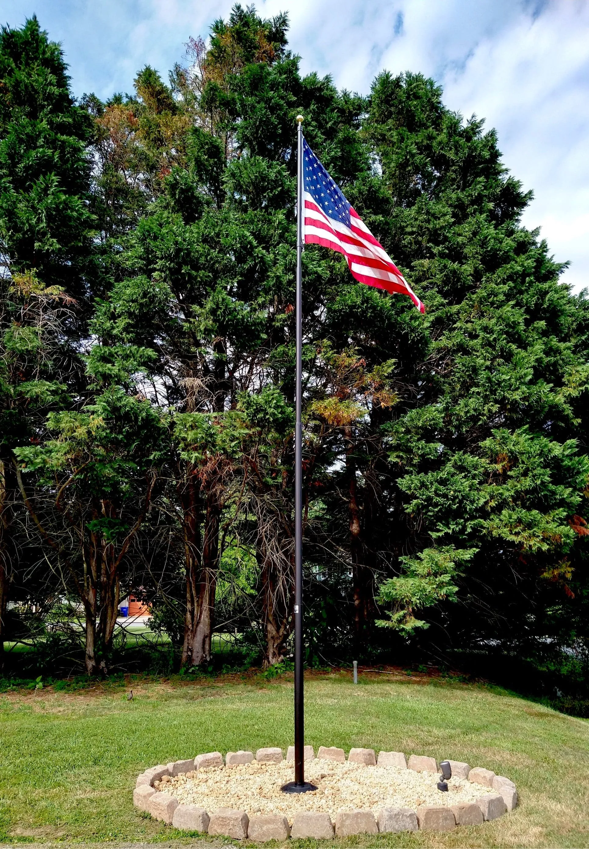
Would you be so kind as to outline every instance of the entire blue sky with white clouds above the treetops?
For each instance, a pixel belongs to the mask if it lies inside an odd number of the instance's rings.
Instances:
[[[251,2],[251,0],[250,0]],[[0,20],[37,14],[61,42],[76,95],[131,91],[150,64],[164,76],[189,36],[206,36],[232,0],[0,0]],[[367,93],[382,69],[420,70],[447,105],[496,127],[503,158],[535,200],[575,289],[589,286],[589,0],[258,0],[286,10],[303,71]]]

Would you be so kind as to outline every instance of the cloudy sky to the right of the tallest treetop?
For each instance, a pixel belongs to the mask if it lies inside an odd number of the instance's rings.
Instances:
[[[380,70],[420,70],[444,101],[495,127],[503,160],[535,200],[528,228],[541,228],[563,280],[589,286],[589,3],[584,0],[266,0],[288,8],[291,46],[303,70],[368,93]]]

